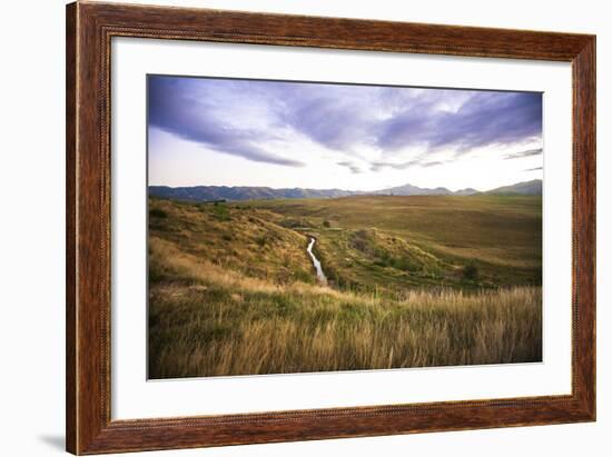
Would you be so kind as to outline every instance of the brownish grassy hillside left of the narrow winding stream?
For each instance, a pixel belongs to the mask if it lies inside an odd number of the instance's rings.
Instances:
[[[247,277],[272,284],[314,284],[305,256],[307,239],[276,223],[279,219],[267,210],[151,199],[149,236]],[[164,265],[159,270],[155,267],[149,269],[151,284],[169,279]]]

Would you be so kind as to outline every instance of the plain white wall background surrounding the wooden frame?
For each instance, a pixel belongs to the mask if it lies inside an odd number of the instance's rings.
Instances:
[[[149,3],[598,34],[598,423],[152,453],[160,456],[606,456],[612,433],[612,12],[598,0]],[[0,71],[0,454],[63,453],[63,0],[6,2]]]

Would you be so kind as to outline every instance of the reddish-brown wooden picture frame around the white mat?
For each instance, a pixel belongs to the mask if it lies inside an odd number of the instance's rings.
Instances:
[[[571,62],[572,394],[111,420],[112,37]],[[67,7],[67,449],[101,454],[595,419],[595,37],[206,9]]]

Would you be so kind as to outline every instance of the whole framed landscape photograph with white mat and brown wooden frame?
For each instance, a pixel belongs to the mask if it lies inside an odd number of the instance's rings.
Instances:
[[[595,420],[595,37],[67,7],[67,449]]]

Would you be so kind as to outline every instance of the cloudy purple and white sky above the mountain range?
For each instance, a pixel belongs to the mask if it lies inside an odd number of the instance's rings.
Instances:
[[[542,151],[540,92],[148,77],[151,186],[488,190]]]

